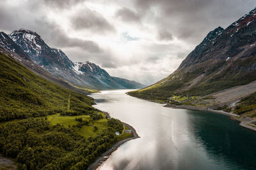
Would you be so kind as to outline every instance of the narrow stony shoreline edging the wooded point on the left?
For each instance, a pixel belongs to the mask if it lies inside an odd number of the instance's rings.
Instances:
[[[105,112],[105,114],[108,114],[108,113]],[[108,116],[109,116],[109,114],[108,114]],[[115,150],[117,150],[121,145],[123,145],[127,141],[131,141],[132,139],[140,138],[140,136],[138,136],[136,130],[131,125],[126,124],[124,122],[122,122],[122,123],[132,131],[132,137],[122,139],[121,141],[118,141],[117,143],[115,143],[115,145],[111,146],[111,148],[109,148],[109,150],[102,153],[102,155],[100,155],[100,157],[98,159],[96,159],[90,166],[88,166],[88,168],[87,168],[88,170],[93,170],[93,169],[97,169],[98,167],[100,167],[102,165],[102,163],[105,162],[109,158],[109,155],[111,155],[111,153],[113,153]]]

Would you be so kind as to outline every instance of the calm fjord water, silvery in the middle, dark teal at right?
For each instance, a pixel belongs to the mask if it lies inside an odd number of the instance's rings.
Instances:
[[[92,95],[95,108],[141,137],[120,146],[99,169],[256,169],[256,132],[226,115],[165,108],[127,91]]]

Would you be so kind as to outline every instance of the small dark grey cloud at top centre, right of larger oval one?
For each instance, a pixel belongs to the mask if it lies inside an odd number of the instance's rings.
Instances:
[[[125,22],[140,22],[140,15],[128,8],[121,8],[116,11],[116,17],[120,18]]]

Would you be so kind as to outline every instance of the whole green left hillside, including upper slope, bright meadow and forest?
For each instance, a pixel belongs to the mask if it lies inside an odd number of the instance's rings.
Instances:
[[[0,153],[18,169],[86,169],[122,134],[92,97],[63,89],[0,53]]]

